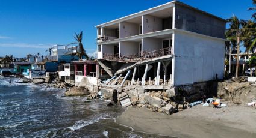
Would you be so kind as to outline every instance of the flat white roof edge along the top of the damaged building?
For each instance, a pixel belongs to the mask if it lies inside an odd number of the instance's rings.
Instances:
[[[222,20],[222,21],[226,22],[225,19],[222,19],[220,17],[214,16],[213,14],[207,13],[206,11],[199,10],[198,8],[192,7],[190,5],[184,4],[183,2],[175,0],[175,1],[167,2],[166,4],[159,5],[157,7],[149,8],[148,10],[143,10],[143,11],[140,11],[138,13],[134,13],[134,14],[130,14],[130,15],[125,16],[125,17],[121,17],[121,18],[116,19],[116,20],[111,20],[110,22],[106,22],[106,23],[102,23],[100,25],[96,25],[95,27],[98,28],[98,27],[101,27],[101,26],[113,25],[113,24],[118,23],[118,22],[123,22],[125,20],[132,19],[134,17],[138,17],[138,16],[142,16],[144,14],[148,14],[151,11],[154,11],[154,10],[157,10],[157,9],[162,9],[162,8],[164,9],[164,8],[172,7],[173,4],[179,4],[179,5],[182,5],[182,6],[187,7],[187,8],[192,8],[193,10],[199,11],[201,13],[207,14],[208,16],[215,17],[215,18],[217,18],[219,20]]]

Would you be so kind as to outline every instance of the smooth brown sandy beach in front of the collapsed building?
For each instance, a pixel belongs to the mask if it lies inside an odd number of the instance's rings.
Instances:
[[[256,137],[255,107],[194,106],[173,115],[129,107],[116,122],[134,131],[170,137]]]

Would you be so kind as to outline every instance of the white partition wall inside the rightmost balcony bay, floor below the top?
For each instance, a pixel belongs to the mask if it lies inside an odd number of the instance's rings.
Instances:
[[[142,51],[151,52],[157,49],[162,49],[162,40],[158,38],[143,38]]]

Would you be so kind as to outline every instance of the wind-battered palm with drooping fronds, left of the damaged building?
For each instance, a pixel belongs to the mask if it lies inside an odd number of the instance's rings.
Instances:
[[[86,51],[84,50],[84,46],[82,43],[83,31],[81,31],[80,33],[75,33],[75,36],[73,37],[75,38],[76,42],[71,44],[78,44],[78,46],[76,46],[76,55],[78,55],[80,61],[83,59],[83,56],[85,56],[86,59],[89,59],[89,56],[86,54]]]

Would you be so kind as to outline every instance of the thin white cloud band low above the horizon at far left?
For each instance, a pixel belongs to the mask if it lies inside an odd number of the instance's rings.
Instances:
[[[52,44],[25,44],[25,43],[0,43],[0,47],[24,47],[34,49],[48,49]]]

